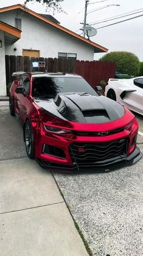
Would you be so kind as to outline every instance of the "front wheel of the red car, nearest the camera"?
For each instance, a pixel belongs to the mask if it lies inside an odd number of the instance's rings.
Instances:
[[[27,156],[30,159],[35,159],[35,146],[33,140],[33,132],[30,122],[27,120],[24,125],[24,141],[26,143]]]

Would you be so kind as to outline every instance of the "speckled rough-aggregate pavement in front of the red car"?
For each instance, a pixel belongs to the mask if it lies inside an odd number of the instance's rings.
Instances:
[[[138,147],[143,152],[143,117]],[[72,216],[93,255],[142,256],[143,158],[110,173],[61,175],[54,173]]]

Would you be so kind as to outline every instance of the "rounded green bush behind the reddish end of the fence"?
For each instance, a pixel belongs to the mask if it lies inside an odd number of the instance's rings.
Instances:
[[[139,75],[139,59],[136,55],[128,51],[112,51],[100,58],[100,61],[116,62],[117,72],[133,76]]]

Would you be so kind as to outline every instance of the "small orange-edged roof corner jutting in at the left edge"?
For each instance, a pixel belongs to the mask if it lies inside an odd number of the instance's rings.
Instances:
[[[21,38],[21,31],[9,24],[0,21],[0,30],[4,31],[4,38],[5,40],[9,40],[9,42],[16,42],[18,39]]]

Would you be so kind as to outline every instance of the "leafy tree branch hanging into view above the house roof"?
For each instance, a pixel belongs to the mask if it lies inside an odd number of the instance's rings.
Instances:
[[[54,12],[55,10],[57,10],[57,12],[63,12],[63,9],[60,5],[60,2],[63,2],[63,0],[26,0],[24,2],[24,6],[26,6],[28,2],[39,2],[40,4],[46,5],[46,10],[53,9]]]

